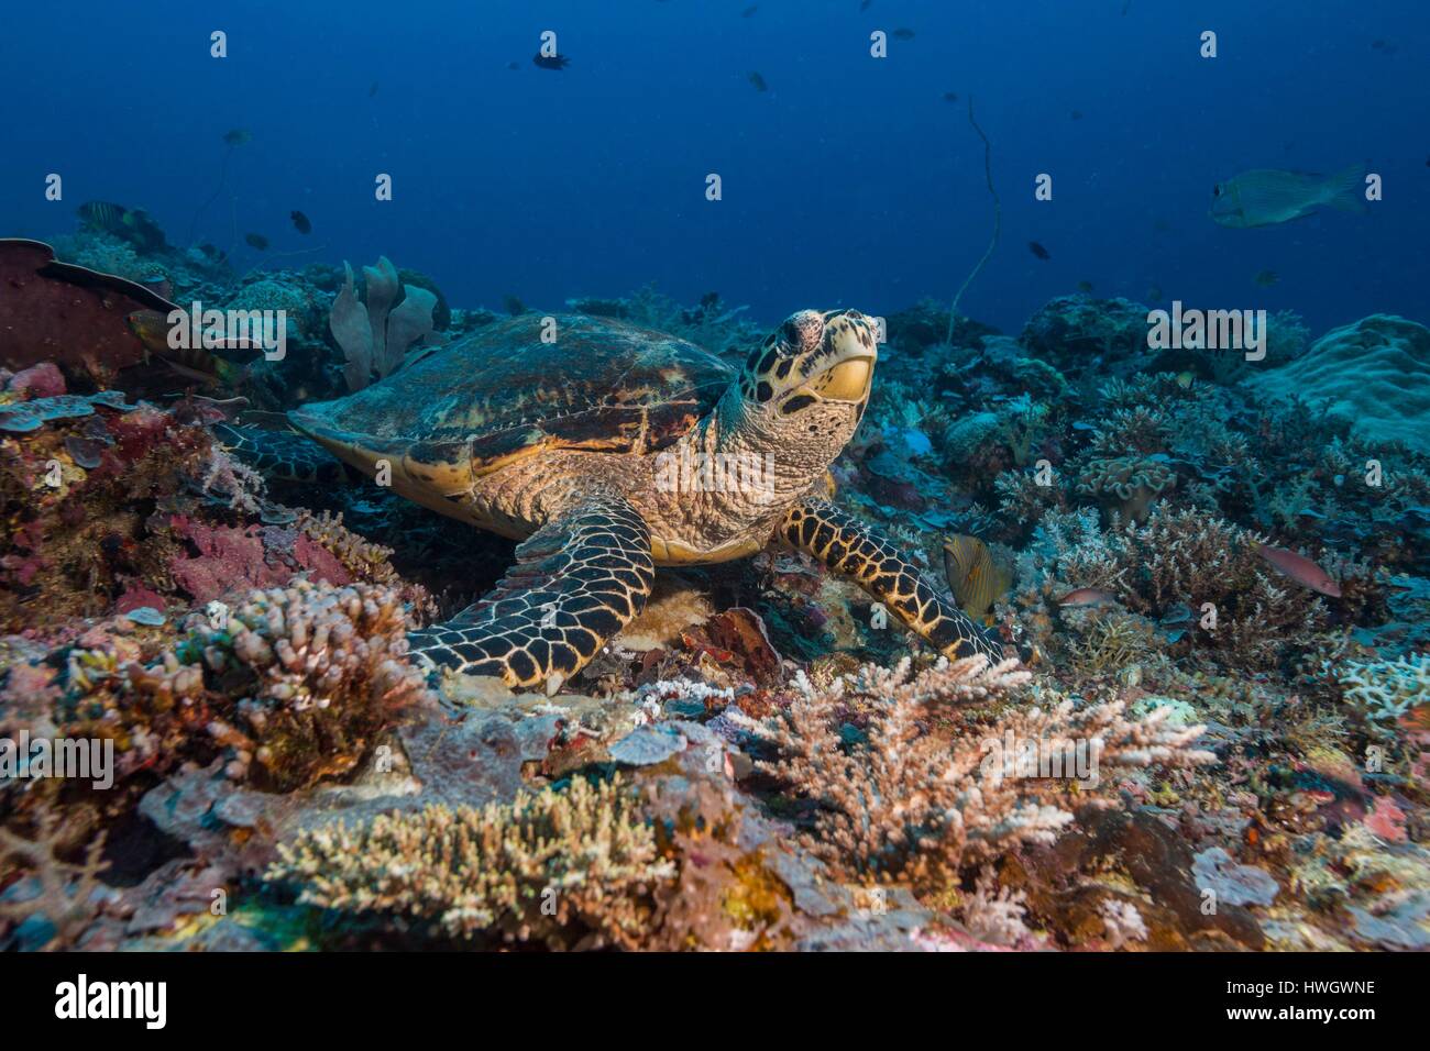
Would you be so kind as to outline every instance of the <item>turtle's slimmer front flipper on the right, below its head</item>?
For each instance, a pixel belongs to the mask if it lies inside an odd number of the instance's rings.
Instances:
[[[779,536],[854,579],[909,629],[948,659],[982,653],[1002,661],[1002,646],[885,538],[827,500],[805,499],[789,509]]]

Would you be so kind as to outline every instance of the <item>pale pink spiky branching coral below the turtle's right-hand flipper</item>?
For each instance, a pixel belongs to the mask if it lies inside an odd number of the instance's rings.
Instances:
[[[865,665],[825,691],[807,689],[776,721],[726,716],[779,752],[759,769],[815,802],[804,845],[864,882],[950,885],[964,865],[1052,841],[1072,819],[1058,804],[1078,789],[1067,779],[1022,776],[1017,749],[1002,751],[1004,742],[1071,756],[1081,741],[1094,755],[1094,781],[1103,769],[1213,761],[1190,746],[1201,726],[1171,726],[1165,712],[1128,721],[1120,702],[1074,711],[1055,698],[1045,709],[968,711],[1005,701],[1028,679],[1015,662],[940,661],[911,673],[905,658],[889,669]],[[847,745],[841,728],[855,708],[867,712],[868,728],[864,742]]]

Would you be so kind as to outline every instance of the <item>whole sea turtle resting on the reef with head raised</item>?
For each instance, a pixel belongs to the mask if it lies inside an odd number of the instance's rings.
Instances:
[[[795,313],[744,367],[608,317],[522,315],[289,419],[408,499],[521,541],[490,593],[413,632],[433,665],[553,691],[641,613],[656,566],[776,541],[948,656],[1001,659],[940,586],[825,499],[877,357],[855,310]]]

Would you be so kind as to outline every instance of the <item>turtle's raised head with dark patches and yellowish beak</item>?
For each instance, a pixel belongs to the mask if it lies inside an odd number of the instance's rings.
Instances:
[[[751,353],[741,395],[769,429],[801,445],[831,443],[838,455],[864,416],[878,356],[871,317],[801,310]]]

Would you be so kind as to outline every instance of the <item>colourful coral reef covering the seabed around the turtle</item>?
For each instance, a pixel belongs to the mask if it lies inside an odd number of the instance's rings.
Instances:
[[[1154,352],[1120,299],[1017,337],[889,313],[837,499],[931,576],[952,535],[1011,561],[987,623],[1037,661],[940,661],[769,551],[662,573],[546,696],[408,659],[509,541],[265,479],[220,426],[282,429],[498,313],[386,259],[237,277],[94,229],[61,255],[283,309],[290,357],[236,399],[93,389],[139,360],[0,370],[0,738],[114,749],[112,791],[0,781],[0,945],[1430,945],[1426,406],[1377,393],[1424,372],[1411,322],[1307,346],[1277,315],[1248,363]],[[568,307],[732,362],[764,337],[715,293]]]

